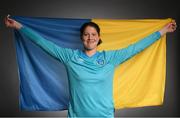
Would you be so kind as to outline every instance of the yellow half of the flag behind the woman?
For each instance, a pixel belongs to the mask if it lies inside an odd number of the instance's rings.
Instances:
[[[93,19],[101,28],[103,43],[98,50],[116,50],[160,30],[172,19]],[[166,36],[119,65],[114,74],[116,109],[161,105],[166,78]]]

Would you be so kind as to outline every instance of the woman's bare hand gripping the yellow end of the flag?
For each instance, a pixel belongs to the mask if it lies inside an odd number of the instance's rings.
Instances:
[[[166,24],[159,32],[161,33],[161,36],[169,33],[169,32],[174,32],[176,30],[176,22],[173,20],[172,22]]]

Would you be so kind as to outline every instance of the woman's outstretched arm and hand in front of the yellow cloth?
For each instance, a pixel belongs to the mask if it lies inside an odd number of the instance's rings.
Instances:
[[[141,39],[140,41],[134,44],[130,44],[128,47],[122,48],[120,50],[108,51],[107,54],[110,55],[111,63],[113,63],[114,65],[119,65],[153,44],[162,35],[168,32],[174,32],[175,30],[176,23],[175,21],[172,21],[166,24],[161,30],[150,34],[149,36]]]

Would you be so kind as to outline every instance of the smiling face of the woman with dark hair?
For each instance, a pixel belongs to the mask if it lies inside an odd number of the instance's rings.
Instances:
[[[82,35],[82,41],[86,50],[97,48],[100,36],[96,29],[92,26],[87,26]]]

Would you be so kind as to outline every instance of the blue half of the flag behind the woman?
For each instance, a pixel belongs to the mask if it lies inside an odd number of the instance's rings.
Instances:
[[[82,49],[80,27],[91,19],[13,17],[61,47]],[[69,103],[66,68],[25,35],[14,30],[20,80],[20,108],[65,110]]]

